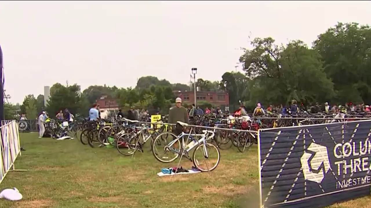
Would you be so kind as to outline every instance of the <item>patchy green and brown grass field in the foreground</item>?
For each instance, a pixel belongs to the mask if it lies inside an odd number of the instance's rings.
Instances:
[[[134,158],[115,149],[91,148],[78,140],[38,139],[20,135],[26,149],[0,188],[17,187],[24,199],[0,201],[7,208],[256,208],[258,207],[257,150],[241,154],[222,150],[221,162],[210,173],[158,177],[161,168],[176,166],[155,160],[147,148]],[[190,168],[193,163],[182,161]],[[331,208],[369,208],[371,198]]]

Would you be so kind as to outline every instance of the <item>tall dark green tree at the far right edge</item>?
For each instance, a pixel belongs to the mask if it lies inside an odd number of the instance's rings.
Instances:
[[[371,103],[371,28],[338,23],[318,36],[314,49],[334,83],[336,101]]]

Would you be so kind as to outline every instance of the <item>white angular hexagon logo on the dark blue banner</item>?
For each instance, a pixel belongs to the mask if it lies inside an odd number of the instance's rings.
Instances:
[[[304,178],[320,184],[324,180],[325,174],[331,168],[327,147],[313,142],[307,150],[315,152],[315,154],[304,152],[300,158]]]

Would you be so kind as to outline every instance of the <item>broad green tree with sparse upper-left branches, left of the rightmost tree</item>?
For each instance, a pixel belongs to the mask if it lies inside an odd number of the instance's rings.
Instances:
[[[296,99],[311,103],[324,102],[335,95],[321,57],[302,41],[278,46],[273,38],[255,38],[252,45],[253,49],[245,49],[240,57],[250,80],[249,100],[285,104]]]

